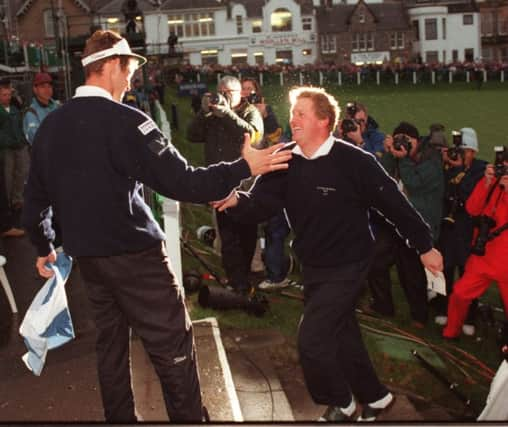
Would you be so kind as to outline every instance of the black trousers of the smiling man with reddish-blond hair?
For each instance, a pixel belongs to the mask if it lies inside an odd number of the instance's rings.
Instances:
[[[337,269],[303,267],[304,311],[298,349],[313,400],[347,407],[355,396],[372,403],[386,396],[362,340],[355,309],[368,262]]]

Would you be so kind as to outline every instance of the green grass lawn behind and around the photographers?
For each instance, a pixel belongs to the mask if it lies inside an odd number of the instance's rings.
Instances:
[[[508,84],[488,83],[477,90],[476,86],[466,83],[454,83],[453,85],[440,83],[431,85],[401,85],[401,86],[348,86],[328,87],[339,100],[341,105],[346,102],[357,100],[367,105],[369,112],[380,124],[383,132],[390,133],[401,120],[414,123],[421,134],[428,133],[428,127],[432,123],[442,123],[446,126],[448,135],[452,129],[461,127],[473,127],[479,136],[479,157],[492,161],[493,147],[495,145],[508,145],[508,134],[505,129],[506,99]],[[271,104],[276,111],[281,124],[288,120],[288,88],[279,86],[264,87],[264,95],[267,103]],[[203,163],[203,147],[200,144],[191,144],[185,138],[185,130],[192,116],[190,100],[178,98],[175,88],[167,89],[166,108],[168,118],[171,103],[177,105],[179,112],[179,130],[173,130],[172,140],[181,153],[194,165]],[[449,143],[451,138],[448,139]],[[195,230],[203,224],[211,224],[211,210],[205,206],[183,205],[182,226],[184,235],[192,240],[206,260],[218,271],[220,259],[210,249],[203,247],[195,239]],[[203,268],[192,257],[184,255],[184,271]],[[294,276],[298,279],[298,276]],[[411,356],[410,350],[417,348],[438,369],[445,372],[453,381],[459,384],[459,389],[471,397],[475,410],[483,406],[488,392],[490,380],[478,371],[478,363],[469,356],[464,356],[460,350],[472,355],[491,369],[496,370],[499,358],[498,347],[495,341],[495,331],[492,326],[482,322],[478,324],[477,337],[461,337],[453,344],[443,343],[440,336],[441,327],[435,325],[431,319],[424,330],[414,329],[411,325],[407,302],[402,289],[398,284],[396,274],[393,275],[394,300],[396,301],[397,314],[393,319],[373,319],[368,316],[360,316],[364,325],[363,333],[369,352],[374,360],[383,381],[388,384],[398,385],[413,392],[439,400],[444,406],[448,405],[458,413],[463,409],[459,401],[440,384],[434,377],[425,371],[420,363]],[[202,318],[207,316],[218,317],[221,325],[240,328],[276,328],[282,331],[289,342],[294,343],[298,320],[301,314],[302,303],[298,300],[289,299],[280,295],[272,295],[270,298],[270,311],[262,318],[247,315],[238,310],[216,312],[199,307],[196,296],[190,296],[192,316]],[[368,294],[365,295],[362,304],[366,304]],[[485,296],[485,301],[496,306],[501,306],[499,295],[495,287],[491,287]],[[496,313],[501,319],[502,314]],[[389,323],[386,323],[389,322]],[[401,338],[399,332],[395,336],[383,333],[394,332],[398,328],[404,333],[412,334],[426,343],[435,345],[439,351],[429,349],[428,345],[421,345]],[[450,351],[450,355],[458,357],[464,365],[458,364],[452,356],[447,356],[443,350]],[[478,415],[477,413],[475,415]]]

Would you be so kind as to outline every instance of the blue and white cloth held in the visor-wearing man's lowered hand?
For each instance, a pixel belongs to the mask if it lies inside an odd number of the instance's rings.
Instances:
[[[22,356],[23,362],[35,375],[41,374],[48,350],[74,338],[64,286],[72,269],[72,258],[59,253],[50,267],[55,274],[39,290],[19,328],[28,349]]]

